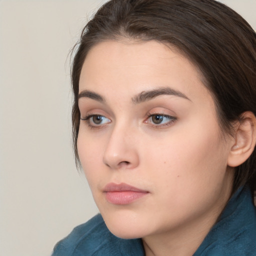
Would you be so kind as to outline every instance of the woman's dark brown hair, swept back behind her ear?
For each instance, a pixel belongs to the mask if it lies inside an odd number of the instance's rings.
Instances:
[[[104,40],[156,40],[174,46],[200,70],[224,132],[244,111],[256,115],[256,34],[234,10],[215,0],[110,0],[82,30],[71,69],[76,164],[79,77],[87,52]],[[235,168],[233,191],[256,189],[256,152]]]

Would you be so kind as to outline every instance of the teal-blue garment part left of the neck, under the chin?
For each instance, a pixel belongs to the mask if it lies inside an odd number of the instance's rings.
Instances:
[[[100,214],[76,226],[60,240],[51,256],[115,256],[143,255],[140,239],[121,239],[106,227]]]

